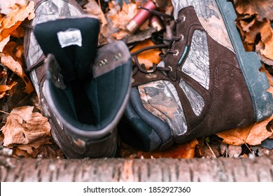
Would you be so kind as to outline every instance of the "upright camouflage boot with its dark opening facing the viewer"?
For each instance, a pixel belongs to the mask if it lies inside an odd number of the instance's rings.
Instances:
[[[39,1],[27,25],[27,71],[57,145],[66,158],[113,157],[130,92],[127,46],[98,49],[99,20],[75,1]]]

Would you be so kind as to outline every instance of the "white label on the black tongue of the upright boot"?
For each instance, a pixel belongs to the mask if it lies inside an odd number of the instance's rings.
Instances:
[[[57,32],[59,44],[62,48],[69,45],[82,45],[82,36],[79,29],[67,29]]]

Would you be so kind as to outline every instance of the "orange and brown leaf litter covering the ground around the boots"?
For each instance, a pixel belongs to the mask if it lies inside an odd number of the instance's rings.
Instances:
[[[101,22],[99,44],[122,39],[134,52],[156,43],[168,43],[174,21],[162,18],[165,29],[156,31],[147,20],[136,34],[130,34],[126,25],[147,0],[135,0],[120,5],[121,1],[78,1],[89,15],[97,15]],[[24,20],[34,15],[34,2],[27,0],[0,0],[0,155],[27,158],[64,158],[50,135],[48,119],[41,115],[38,98],[24,72]],[[119,3],[118,3],[119,2]],[[160,12],[172,15],[171,0],[155,0]],[[271,1],[239,1],[236,25],[246,51],[255,51],[262,62],[273,93],[273,29]],[[149,69],[160,61],[163,49],[142,52],[139,62]],[[122,141],[118,157],[122,158],[210,158],[273,155],[273,146],[262,147],[265,139],[273,139],[273,116],[260,123],[241,129],[228,130],[210,137],[193,139],[186,144],[175,144],[167,151],[142,152]],[[272,145],[272,144],[271,144]]]

